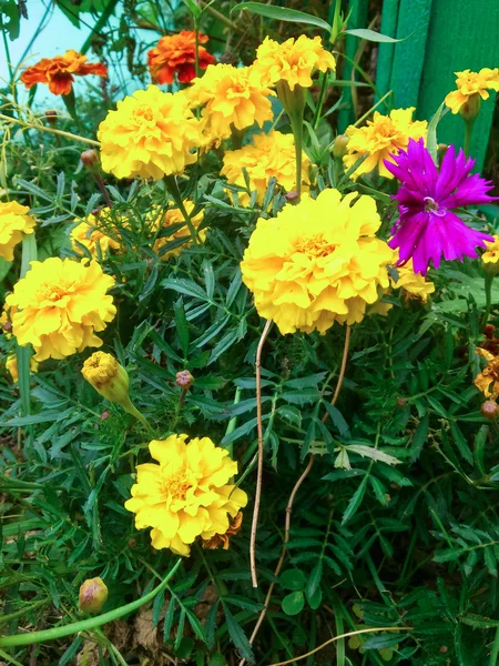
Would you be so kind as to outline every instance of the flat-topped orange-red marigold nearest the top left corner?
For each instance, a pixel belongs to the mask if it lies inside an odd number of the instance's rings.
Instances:
[[[106,77],[108,68],[101,62],[86,62],[86,56],[70,49],[64,56],[43,58],[21,74],[21,81],[30,89],[35,83],[47,83],[53,94],[70,94],[74,77],[95,74]]]

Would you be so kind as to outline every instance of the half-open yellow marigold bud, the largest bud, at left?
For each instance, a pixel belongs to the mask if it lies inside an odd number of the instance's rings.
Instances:
[[[110,402],[129,402],[129,375],[111,354],[94,352],[83,364],[82,375]]]

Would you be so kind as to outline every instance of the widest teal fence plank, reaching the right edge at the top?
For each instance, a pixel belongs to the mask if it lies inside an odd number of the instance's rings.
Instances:
[[[499,65],[498,0],[434,0],[418,100],[418,118],[429,119],[450,90],[454,72]],[[495,94],[482,102],[471,139],[471,157],[481,170],[492,122]],[[438,140],[462,145],[464,123],[450,112],[438,125]]]

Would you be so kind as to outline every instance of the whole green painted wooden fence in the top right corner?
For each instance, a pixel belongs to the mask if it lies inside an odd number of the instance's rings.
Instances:
[[[349,28],[366,28],[373,19],[368,0],[349,0],[347,4],[352,10]],[[499,67],[499,0],[384,0],[379,30],[408,39],[379,44],[377,90],[381,95],[393,90],[394,107],[416,107],[418,119],[429,120],[455,89],[454,72]],[[357,48],[358,40],[347,38],[345,53],[349,59],[355,58]],[[347,64],[344,78],[350,72]],[[473,129],[470,153],[478,169],[483,164],[495,100],[491,92]],[[339,130],[352,120],[352,109],[344,110]],[[438,139],[459,145],[462,133],[460,117],[448,113],[439,125]]]

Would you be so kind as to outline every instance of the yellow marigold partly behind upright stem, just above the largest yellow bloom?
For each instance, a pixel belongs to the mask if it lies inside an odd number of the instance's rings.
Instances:
[[[296,190],[296,162],[295,140],[293,134],[283,134],[273,131],[269,134],[255,134],[251,145],[244,145],[240,150],[227,151],[224,154],[224,165],[221,175],[225,175],[231,184],[246,188],[243,174],[246,169],[249,178],[249,188],[258,193],[256,201],[262,204],[271,178],[277,179],[286,192]],[[309,184],[308,172],[310,160],[302,153],[303,191]],[[249,194],[238,193],[240,205],[249,204]]]

